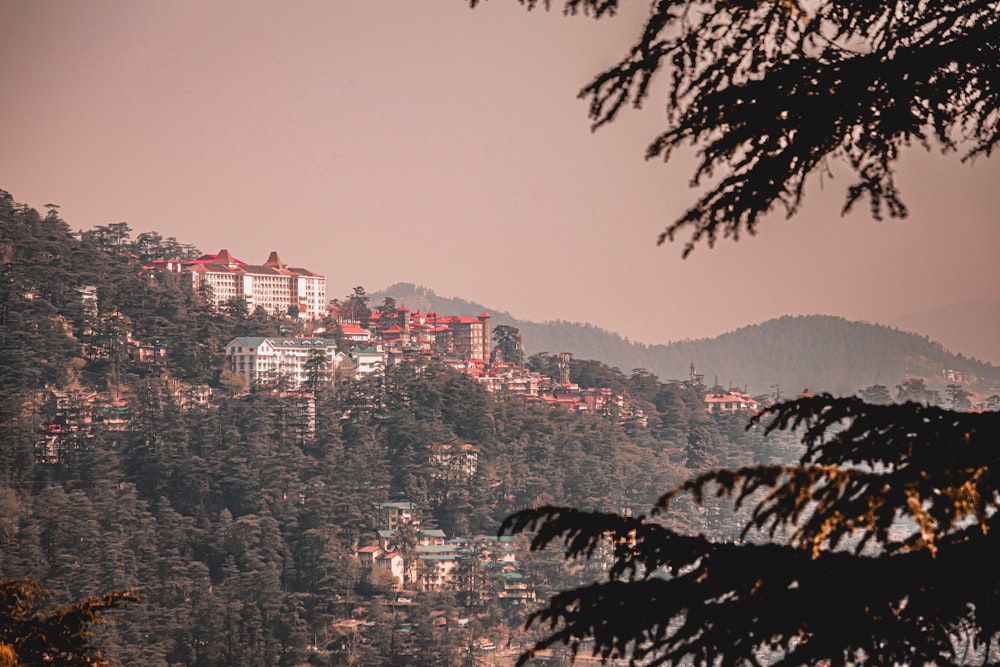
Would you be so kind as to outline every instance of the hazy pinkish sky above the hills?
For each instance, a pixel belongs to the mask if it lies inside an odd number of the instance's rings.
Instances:
[[[906,154],[904,221],[841,218],[842,176],[754,238],[657,247],[695,197],[690,156],[643,160],[662,97],[597,133],[576,99],[647,6],[0,0],[0,188],[75,228],[277,250],[330,297],[413,282],[644,342],[1000,293],[996,158]]]

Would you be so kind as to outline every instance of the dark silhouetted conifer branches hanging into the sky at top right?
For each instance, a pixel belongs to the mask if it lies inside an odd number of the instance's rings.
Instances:
[[[562,5],[599,18],[619,2]],[[686,256],[699,241],[753,234],[776,207],[794,214],[807,178],[834,161],[855,179],[844,212],[867,196],[875,218],[903,217],[893,178],[903,147],[936,141],[970,160],[996,146],[1000,5],[654,0],[628,53],[580,92],[594,129],[646,103],[657,73],[668,81],[667,129],[646,157],[698,146],[692,184],[708,182],[660,243],[690,231]]]

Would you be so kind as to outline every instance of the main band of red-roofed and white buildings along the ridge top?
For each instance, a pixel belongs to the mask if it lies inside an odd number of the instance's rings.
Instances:
[[[468,375],[492,393],[645,421],[641,410],[626,406],[624,397],[610,389],[581,389],[568,376],[556,381],[500,359],[492,346],[490,315],[486,312],[475,317],[442,316],[401,306],[348,315],[326,304],[323,276],[308,269],[290,268],[273,251],[260,266],[246,264],[223,249],[188,262],[157,260],[145,268],[181,273],[187,284],[216,307],[236,299],[243,300],[249,311],[260,307],[271,315],[336,323],[316,328],[311,338],[234,338],[226,346],[229,370],[242,376],[249,387],[278,383],[300,389],[317,376],[321,367],[329,371],[345,362],[349,362],[356,377],[361,377],[396,364],[436,360]]]

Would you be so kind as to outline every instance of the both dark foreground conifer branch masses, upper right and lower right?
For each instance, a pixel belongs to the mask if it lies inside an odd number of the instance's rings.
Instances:
[[[479,0],[470,0],[475,6]],[[521,0],[529,9],[548,0]],[[618,0],[565,0],[613,14]],[[793,215],[810,177],[851,172],[844,211],[907,209],[894,166],[911,143],[989,156],[1000,140],[1000,11],[990,0],[654,0],[634,46],[581,91],[594,128],[668,84],[667,127],[647,158],[699,151],[705,192],[660,235],[700,243]],[[534,612],[547,632],[522,656],[568,645],[644,665],[1000,664],[1000,414],[937,407],[906,382],[901,405],[822,395],[754,419],[801,429],[794,465],[694,477],[649,515],[545,506],[501,532],[534,532],[588,558],[609,540],[606,580]],[[750,508],[738,541],[681,533],[672,502]]]

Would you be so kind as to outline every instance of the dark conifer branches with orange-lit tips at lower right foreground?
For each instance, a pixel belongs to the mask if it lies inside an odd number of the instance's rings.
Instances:
[[[769,408],[802,429],[798,465],[716,471],[649,517],[542,507],[501,532],[567,559],[613,550],[607,580],[555,595],[529,624],[538,650],[585,641],[649,665],[995,664],[1000,414],[819,396]],[[706,492],[754,504],[743,540],[682,535],[659,518]]]

